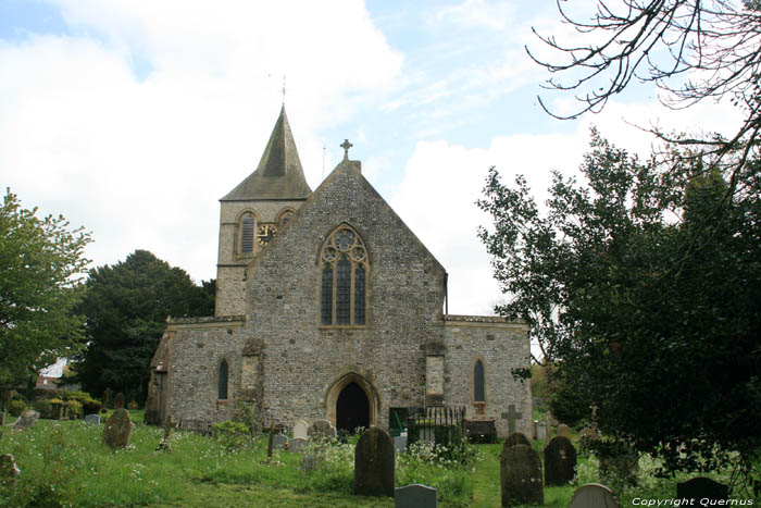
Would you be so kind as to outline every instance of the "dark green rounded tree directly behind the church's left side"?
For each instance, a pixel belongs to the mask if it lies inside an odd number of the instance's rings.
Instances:
[[[86,285],[78,310],[87,318],[89,347],[76,370],[92,394],[111,388],[142,402],[166,318],[214,313],[213,281],[197,286],[147,250],[91,270]]]

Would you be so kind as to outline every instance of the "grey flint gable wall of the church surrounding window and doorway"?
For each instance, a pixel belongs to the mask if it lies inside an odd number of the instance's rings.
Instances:
[[[369,253],[365,326],[320,322],[320,252],[342,223],[362,236]],[[375,388],[383,428],[388,408],[424,404],[424,345],[440,340],[444,269],[361,176],[359,163],[334,171],[253,261],[249,281],[246,334],[264,342],[264,404],[275,422],[330,417],[329,388],[350,372]]]

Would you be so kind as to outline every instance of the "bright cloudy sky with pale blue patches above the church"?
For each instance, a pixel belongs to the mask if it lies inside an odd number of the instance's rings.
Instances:
[[[0,0],[0,186],[91,232],[92,267],[146,249],[213,278],[219,199],[257,168],[285,100],[310,186],[349,139],[448,271],[449,312],[489,315],[506,298],[476,236],[490,166],[541,201],[551,170],[577,174],[591,125],[647,156],[638,127],[737,120],[725,103],[666,110],[650,86],[552,119],[537,95],[559,112],[573,97],[540,88],[525,47],[549,54],[532,28],[577,37],[559,17],[531,0]]]

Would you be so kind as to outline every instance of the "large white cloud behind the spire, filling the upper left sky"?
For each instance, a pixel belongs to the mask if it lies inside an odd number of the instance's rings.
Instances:
[[[0,179],[91,230],[96,264],[144,248],[215,276],[217,199],[259,162],[282,75],[315,187],[315,133],[402,62],[358,2],[55,3],[78,35],[0,41]]]

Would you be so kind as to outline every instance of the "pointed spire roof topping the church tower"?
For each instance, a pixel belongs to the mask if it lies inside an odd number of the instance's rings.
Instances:
[[[304,178],[294,134],[290,132],[283,106],[259,166],[221,200],[304,199],[310,194],[312,189]]]

